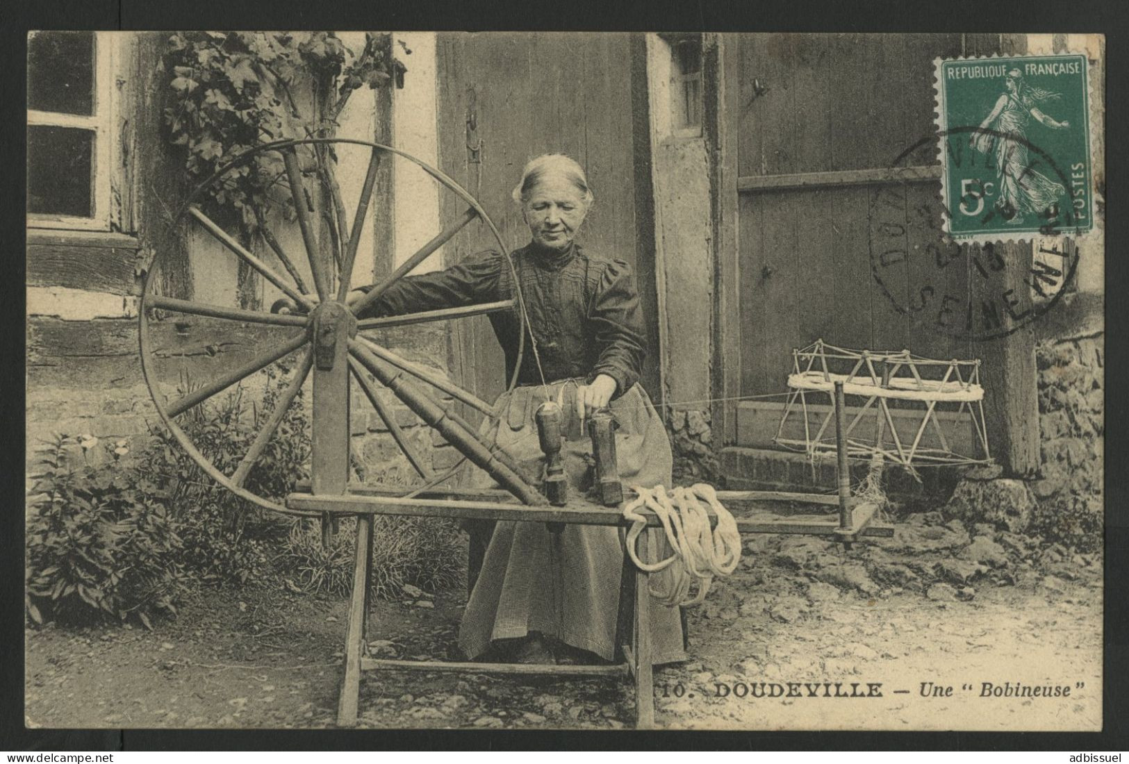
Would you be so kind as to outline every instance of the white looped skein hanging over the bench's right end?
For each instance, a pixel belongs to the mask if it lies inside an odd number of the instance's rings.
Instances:
[[[637,497],[623,507],[623,517],[632,520],[627,534],[628,556],[649,573],[667,571],[666,576],[654,577],[650,588],[650,595],[664,605],[698,605],[706,599],[715,576],[728,576],[737,568],[741,534],[736,520],[717,500],[714,488],[704,483],[675,488],[669,494],[662,485],[654,489],[637,485],[634,491]],[[699,499],[714,510],[716,527],[710,528],[709,512]],[[636,550],[639,534],[647,528],[647,510],[658,517],[673,550],[669,557],[654,563],[640,560]],[[660,580],[662,589],[656,589],[655,579]],[[698,591],[691,597],[694,585]]]

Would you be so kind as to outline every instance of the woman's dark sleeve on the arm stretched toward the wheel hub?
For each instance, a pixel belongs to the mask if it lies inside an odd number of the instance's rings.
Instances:
[[[501,255],[488,251],[471,255],[444,271],[406,275],[392,284],[358,318],[399,316],[505,299],[499,297],[501,264]],[[360,289],[367,292],[373,284]]]

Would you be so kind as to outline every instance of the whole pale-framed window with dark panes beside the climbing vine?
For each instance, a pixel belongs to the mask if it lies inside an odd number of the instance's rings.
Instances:
[[[110,230],[112,58],[110,35],[28,35],[28,226]]]

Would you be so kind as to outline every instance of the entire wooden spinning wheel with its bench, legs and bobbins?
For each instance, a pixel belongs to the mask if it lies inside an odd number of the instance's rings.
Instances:
[[[332,165],[324,160],[323,152],[333,147],[355,146],[367,148],[370,158],[364,184],[357,200],[352,223],[347,220],[340,190],[333,179]],[[270,256],[251,252],[218,222],[210,219],[198,205],[208,187],[222,183],[229,173],[242,172],[256,157],[280,155],[283,176],[295,202],[295,213],[305,251],[305,263],[291,260],[287,248],[279,243],[272,231],[265,230],[263,239],[271,251]],[[303,177],[303,156],[313,157],[321,174],[322,194],[310,194]],[[379,163],[401,157],[413,163],[434,181],[441,184],[466,203],[466,211],[447,228],[435,236],[415,254],[404,261],[383,282],[361,297],[349,298],[350,281],[357,256],[361,231],[374,193]],[[320,163],[320,164],[318,164]],[[326,213],[315,218],[315,200],[327,200],[322,207]],[[428,390],[434,387],[445,396],[471,406],[487,416],[496,416],[493,407],[473,393],[453,385],[439,375],[421,368],[397,353],[388,350],[364,332],[378,331],[391,326],[422,324],[435,320],[463,318],[489,313],[510,310],[518,319],[518,336],[524,343],[526,334],[526,311],[518,280],[513,299],[498,302],[471,305],[457,308],[427,310],[386,318],[358,319],[365,308],[371,305],[396,281],[422,263],[439,247],[449,242],[473,220],[480,220],[493,236],[498,249],[504,254],[506,266],[516,276],[514,264],[501,240],[498,229],[487,217],[481,205],[449,177],[387,146],[345,139],[306,139],[277,141],[263,144],[240,155],[226,167],[220,168],[202,184],[189,199],[174,225],[199,226],[203,232],[218,242],[230,257],[257,272],[266,282],[289,301],[287,313],[271,313],[207,304],[200,300],[180,299],[160,295],[163,267],[167,263],[158,253],[149,267],[140,306],[141,368],[146,384],[161,420],[184,449],[200,467],[221,485],[243,499],[264,509],[287,515],[327,517],[340,515],[357,518],[356,559],[352,570],[352,594],[349,603],[344,646],[344,667],[341,683],[338,723],[356,723],[360,692],[360,674],[366,669],[428,671],[464,671],[472,674],[554,674],[575,677],[628,677],[633,679],[636,700],[636,725],[641,728],[654,723],[654,687],[650,648],[650,585],[649,572],[644,568],[624,564],[621,596],[621,625],[618,638],[618,653],[623,661],[611,666],[535,666],[523,664],[473,664],[402,661],[375,659],[366,656],[366,630],[369,616],[370,571],[373,552],[373,521],[376,515],[428,516],[483,520],[517,520],[525,522],[548,522],[550,529],[559,529],[562,524],[610,526],[621,529],[621,538],[627,534],[630,520],[621,513],[624,500],[630,499],[621,491],[619,473],[615,469],[615,436],[610,421],[601,416],[592,420],[593,445],[596,455],[596,472],[602,488],[602,503],[584,497],[566,497],[563,485],[554,480],[560,476],[560,464],[554,463],[554,454],[560,449],[559,420],[553,429],[552,416],[542,418],[539,411],[537,427],[542,451],[545,455],[545,491],[530,485],[520,472],[505,454],[495,453],[490,445],[479,437],[476,430],[464,421],[452,406],[445,406]],[[326,235],[318,236],[321,230]],[[285,273],[283,273],[285,272]],[[308,278],[308,282],[307,282]],[[307,287],[313,284],[313,290]],[[283,300],[275,301],[275,305]],[[161,378],[161,360],[154,352],[150,337],[151,324],[159,314],[178,314],[207,317],[220,322],[248,324],[273,331],[280,337],[269,346],[257,351],[251,360],[238,368],[219,374],[203,386],[191,392],[174,392],[174,384]],[[220,340],[221,337],[217,337]],[[535,337],[533,337],[535,340]],[[533,348],[534,352],[536,348]],[[509,379],[513,388],[520,368],[520,353],[514,375]],[[177,418],[200,406],[212,396],[247,379],[257,371],[297,354],[299,360],[295,376],[281,393],[274,410],[270,413],[261,431],[246,447],[244,455],[230,474],[209,460],[196,444],[177,424]],[[313,377],[313,406],[310,418],[310,483],[308,489],[288,495],[278,502],[248,490],[247,477],[271,439],[280,431],[287,410],[294,404],[308,377]],[[166,375],[167,377],[167,375]],[[350,378],[356,380],[364,397],[384,421],[388,433],[395,440],[408,463],[418,473],[422,485],[350,484]],[[380,387],[387,388],[410,411],[426,424],[435,429],[448,444],[455,447],[464,459],[485,471],[501,486],[485,490],[445,490],[438,488],[450,473],[435,475],[411,441],[399,427],[394,412],[382,401]],[[844,430],[842,422],[842,383],[835,383],[835,427]],[[603,430],[595,427],[601,421]],[[603,450],[599,444],[603,444]],[[813,504],[839,506],[838,520],[819,518],[814,520],[788,517],[780,519],[771,512],[735,520],[743,533],[816,534],[850,544],[864,536],[890,536],[893,529],[872,522],[876,506],[859,502],[849,494],[846,469],[847,449],[840,444],[839,497],[820,494],[784,493],[771,491],[718,491],[716,497],[724,501],[787,501]],[[305,486],[304,486],[305,488]],[[548,494],[548,497],[545,495]],[[704,512],[704,510],[703,510]],[[712,510],[710,510],[712,512]],[[702,521],[717,522],[717,516],[707,513]],[[650,527],[660,527],[655,515],[645,519]],[[708,526],[706,526],[708,529]],[[637,527],[633,533],[638,535]],[[636,555],[648,557],[648,534],[638,536]],[[657,552],[657,551],[656,551]],[[625,557],[627,560],[627,557]],[[628,611],[631,611],[630,613]]]

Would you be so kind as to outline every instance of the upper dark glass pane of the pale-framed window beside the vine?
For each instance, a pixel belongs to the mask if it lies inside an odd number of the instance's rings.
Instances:
[[[35,32],[27,42],[27,107],[94,114],[94,33]]]

